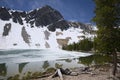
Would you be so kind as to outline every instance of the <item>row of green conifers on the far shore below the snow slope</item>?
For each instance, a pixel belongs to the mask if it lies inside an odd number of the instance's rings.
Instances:
[[[91,51],[93,48],[93,42],[90,39],[83,39],[78,43],[73,43],[67,46],[63,46],[63,50],[70,51]]]

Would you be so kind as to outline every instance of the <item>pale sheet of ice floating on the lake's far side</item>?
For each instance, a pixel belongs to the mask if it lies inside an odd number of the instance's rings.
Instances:
[[[52,49],[15,49],[15,50],[0,50],[0,63],[21,63],[21,62],[36,62],[46,60],[71,59],[83,56],[89,56],[88,53],[52,50]]]

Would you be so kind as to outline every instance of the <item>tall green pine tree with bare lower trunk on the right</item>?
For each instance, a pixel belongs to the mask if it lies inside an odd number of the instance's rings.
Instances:
[[[117,52],[120,52],[120,0],[94,0],[93,21],[98,27],[96,51],[113,55],[113,75],[117,70]]]

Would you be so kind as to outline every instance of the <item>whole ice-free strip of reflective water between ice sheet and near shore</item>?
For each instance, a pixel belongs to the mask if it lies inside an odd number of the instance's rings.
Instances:
[[[87,57],[80,57],[74,59],[60,59],[51,61],[38,61],[38,62],[26,62],[26,63],[2,63],[0,64],[0,77],[34,77],[40,76],[45,72],[54,72],[57,68],[74,68],[83,67],[84,65],[90,66],[94,64],[104,64],[110,61],[110,57],[106,55],[90,55]],[[83,65],[84,64],[84,65]],[[6,65],[8,68],[6,69]],[[17,70],[17,71],[15,71]],[[15,71],[15,72],[11,72]],[[14,74],[11,74],[14,73]],[[16,73],[16,74],[15,74]],[[19,74],[19,76],[17,75]]]

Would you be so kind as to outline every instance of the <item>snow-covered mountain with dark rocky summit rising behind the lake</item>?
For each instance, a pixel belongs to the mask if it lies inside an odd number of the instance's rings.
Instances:
[[[92,30],[89,24],[66,21],[48,5],[29,12],[0,7],[0,49],[61,48],[93,37]]]

